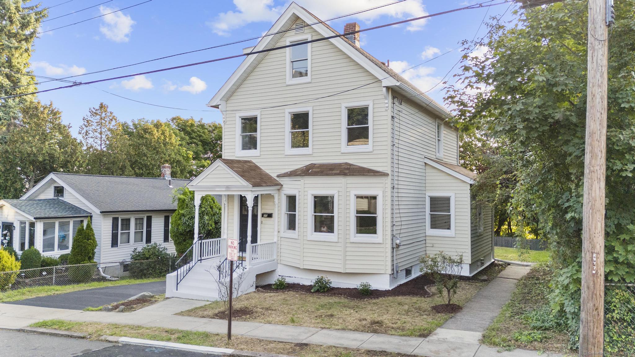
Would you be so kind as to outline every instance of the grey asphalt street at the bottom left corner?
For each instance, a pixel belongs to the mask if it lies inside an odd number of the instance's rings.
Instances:
[[[113,344],[110,342],[0,330],[0,356],[10,357],[213,357],[220,354],[196,353],[160,347]]]

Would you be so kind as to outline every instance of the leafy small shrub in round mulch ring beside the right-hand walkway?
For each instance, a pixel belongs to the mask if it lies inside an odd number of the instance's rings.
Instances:
[[[458,278],[463,270],[463,255],[455,258],[443,252],[426,254],[419,259],[419,262],[421,262],[420,271],[432,275],[439,295],[443,295],[445,290],[448,305],[450,305],[454,295],[457,295]]]

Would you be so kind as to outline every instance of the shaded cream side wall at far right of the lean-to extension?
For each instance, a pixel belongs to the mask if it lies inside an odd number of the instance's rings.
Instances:
[[[491,205],[483,205],[483,231],[478,231],[478,215],[476,203],[471,205],[471,261],[470,273],[474,273],[480,266],[474,264],[479,259],[485,259],[485,263],[493,259],[492,246],[494,239],[493,210]]]

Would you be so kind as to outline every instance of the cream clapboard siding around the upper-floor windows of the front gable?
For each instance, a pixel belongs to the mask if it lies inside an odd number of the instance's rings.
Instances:
[[[323,37],[312,27],[305,27],[304,34],[311,34],[312,39]],[[295,34],[285,34],[276,46],[285,45],[290,36]],[[286,85],[286,50],[271,51],[227,100],[223,128],[224,158],[236,158],[236,112],[253,112],[263,107],[302,102],[374,81],[342,95],[288,107],[262,109],[260,156],[237,159],[251,159],[273,176],[309,163],[342,161],[388,172],[389,114],[385,110],[381,81],[330,41],[312,43],[311,46],[311,83]],[[340,137],[342,104],[368,100],[373,101],[373,152],[343,154]],[[312,107],[312,155],[284,154],[284,113],[294,107]]]

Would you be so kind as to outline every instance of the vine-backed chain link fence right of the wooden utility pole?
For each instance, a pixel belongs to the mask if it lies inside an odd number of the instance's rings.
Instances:
[[[635,355],[635,284],[605,285],[604,352]]]

